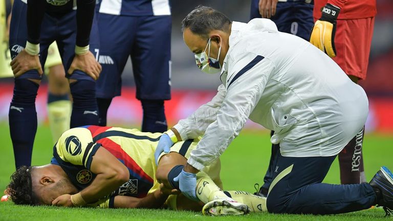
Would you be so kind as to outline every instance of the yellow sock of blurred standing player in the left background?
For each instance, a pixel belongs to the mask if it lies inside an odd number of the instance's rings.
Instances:
[[[70,129],[72,104],[71,101],[61,100],[48,104],[48,119],[54,143],[64,131]]]

